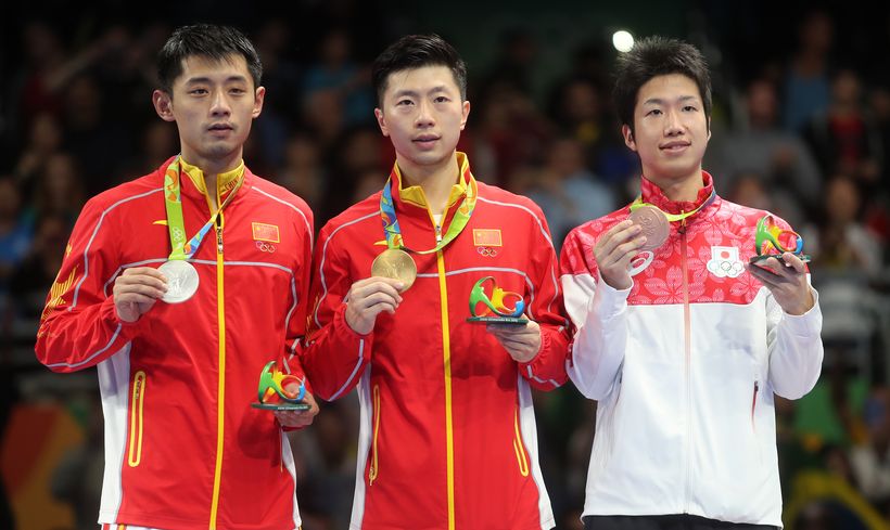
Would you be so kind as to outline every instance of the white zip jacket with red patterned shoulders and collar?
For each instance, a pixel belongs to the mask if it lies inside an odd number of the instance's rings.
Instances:
[[[643,199],[690,211],[643,179]],[[576,327],[569,376],[598,401],[584,515],[691,514],[781,526],[773,396],[816,383],[822,313],[785,313],[746,272],[766,212],[719,196],[632,262],[634,285],[600,282],[594,245],[627,207],[573,230],[560,260]],[[779,224],[788,228],[785,221]]]

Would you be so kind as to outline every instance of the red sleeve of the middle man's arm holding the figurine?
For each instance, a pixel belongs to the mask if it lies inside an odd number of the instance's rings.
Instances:
[[[527,363],[520,363],[520,372],[539,390],[552,390],[568,380],[565,360],[569,352],[569,321],[562,303],[562,288],[558,279],[558,262],[550,231],[544,215],[535,208],[537,223],[533,223],[531,256],[532,285],[529,315],[541,326],[541,349]]]

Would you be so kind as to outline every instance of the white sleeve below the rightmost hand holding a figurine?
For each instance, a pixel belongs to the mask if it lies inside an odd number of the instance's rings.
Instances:
[[[808,275],[809,280],[809,275]],[[813,389],[822,372],[822,310],[813,289],[813,307],[801,315],[783,311],[772,295],[767,297],[770,383],[787,399],[798,399]]]

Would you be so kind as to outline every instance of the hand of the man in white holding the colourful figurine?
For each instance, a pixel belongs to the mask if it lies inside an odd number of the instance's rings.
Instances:
[[[785,253],[780,260],[768,258],[760,263],[745,267],[770,289],[786,313],[801,315],[813,308],[815,299],[806,283],[806,268],[800,258]]]

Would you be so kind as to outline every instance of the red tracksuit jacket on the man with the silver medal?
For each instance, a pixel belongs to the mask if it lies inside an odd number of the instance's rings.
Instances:
[[[313,216],[245,169],[193,257],[198,293],[124,323],[115,277],[157,267],[170,253],[162,192],[169,161],[84,207],[47,299],[37,357],[55,372],[98,369],[99,522],[292,530],[301,521],[288,439],[269,412],[250,404],[264,364],[289,356],[303,334]],[[181,182],[191,237],[211,211],[185,171]]]

